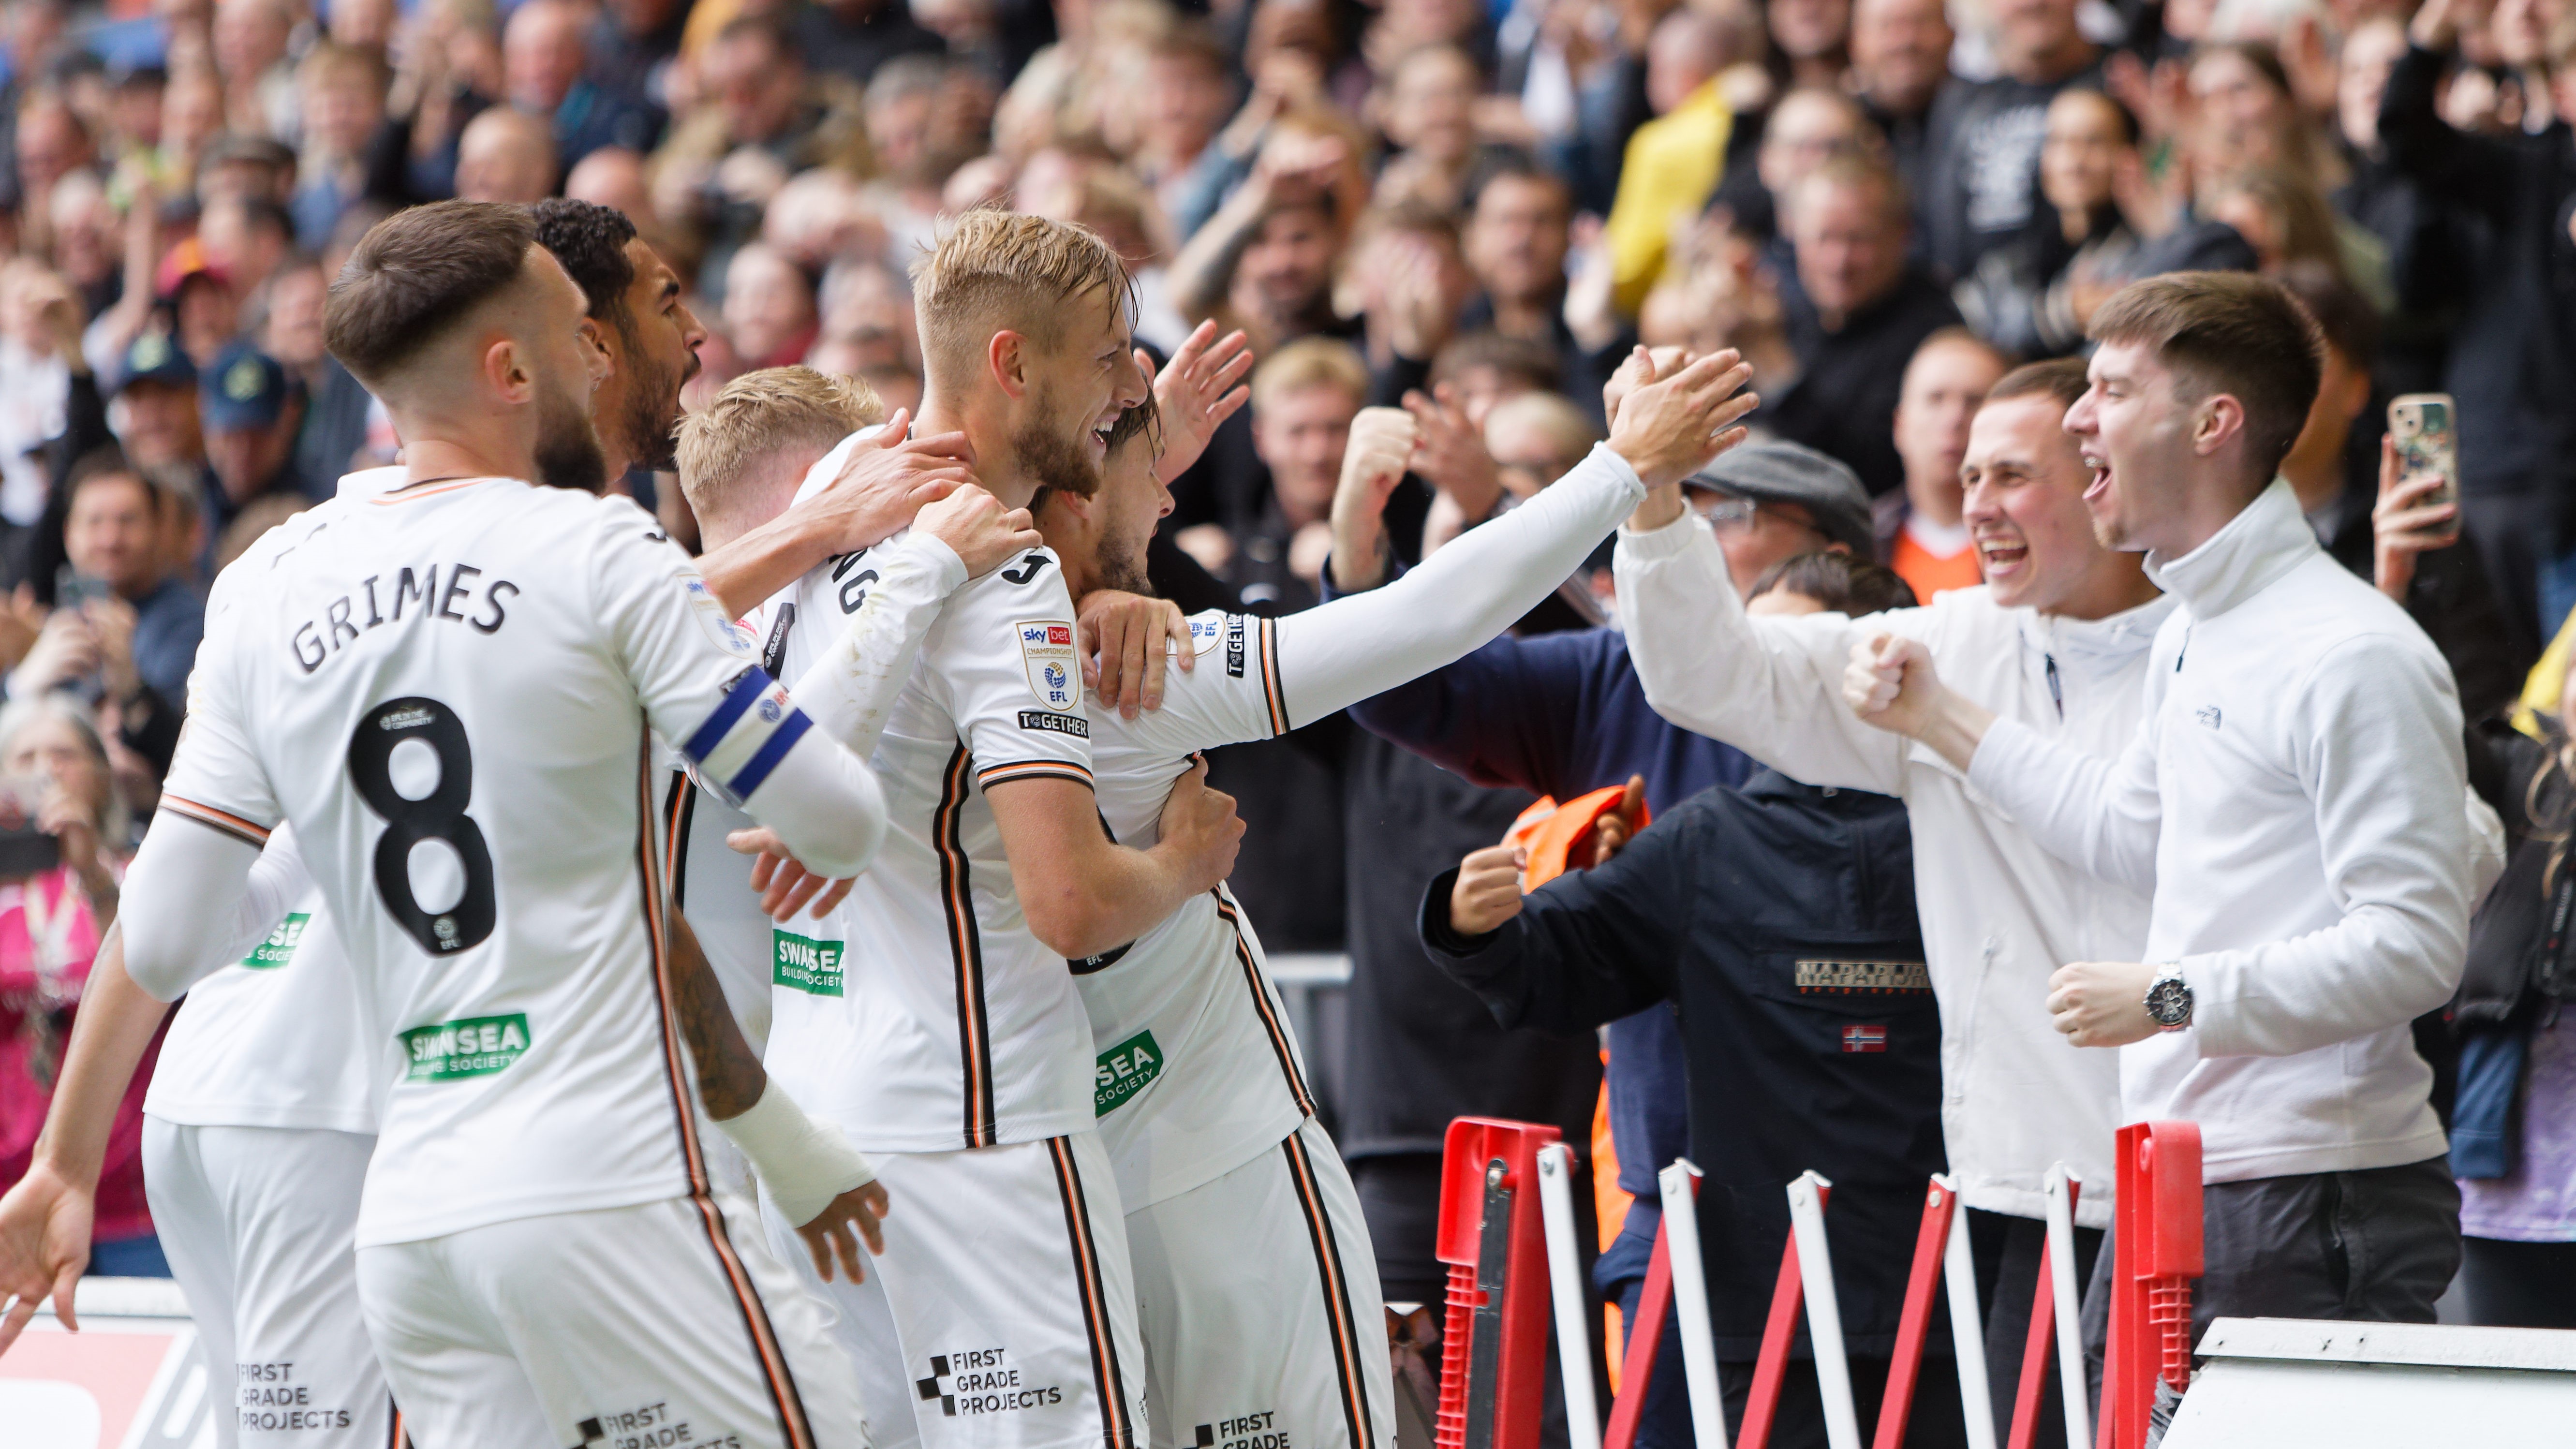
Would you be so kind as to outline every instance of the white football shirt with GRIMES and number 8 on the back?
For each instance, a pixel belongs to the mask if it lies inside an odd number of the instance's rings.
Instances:
[[[273,538],[209,605],[162,806],[296,821],[392,1053],[358,1243],[690,1192],[647,731],[734,798],[858,811],[855,764],[783,770],[806,715],[629,499],[456,479]]]

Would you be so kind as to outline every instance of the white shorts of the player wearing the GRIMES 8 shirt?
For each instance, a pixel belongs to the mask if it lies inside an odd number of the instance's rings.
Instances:
[[[554,1212],[358,1251],[422,1449],[866,1449],[824,1307],[739,1199]]]

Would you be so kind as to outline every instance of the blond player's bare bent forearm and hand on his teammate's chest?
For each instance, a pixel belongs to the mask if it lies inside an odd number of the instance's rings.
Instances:
[[[1108,839],[1087,785],[1030,777],[984,788],[1002,826],[1010,883],[1028,929],[1066,960],[1133,942],[1182,901],[1234,872],[1244,821],[1208,790],[1206,762],[1172,785],[1162,839],[1133,849]]]

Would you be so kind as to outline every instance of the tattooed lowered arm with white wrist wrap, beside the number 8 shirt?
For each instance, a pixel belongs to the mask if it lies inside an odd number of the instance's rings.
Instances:
[[[670,1014],[698,1068],[698,1099],[719,1132],[752,1163],[770,1199],[814,1253],[814,1271],[832,1282],[835,1264],[860,1282],[858,1241],[886,1251],[886,1186],[868,1158],[829,1122],[814,1122],[770,1084],[760,1053],[742,1037],[724,986],[688,919],[670,916]]]

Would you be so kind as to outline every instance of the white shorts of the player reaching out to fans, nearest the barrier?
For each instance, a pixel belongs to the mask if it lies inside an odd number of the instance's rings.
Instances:
[[[1321,1122],[1128,1212],[1128,1253],[1154,1449],[1394,1449],[1378,1256]]]

